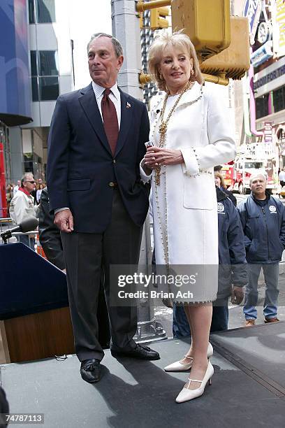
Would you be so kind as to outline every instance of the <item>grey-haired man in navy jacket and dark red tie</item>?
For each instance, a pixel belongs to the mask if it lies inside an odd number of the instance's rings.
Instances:
[[[47,187],[54,222],[61,229],[68,297],[87,382],[100,378],[96,306],[101,264],[110,317],[113,356],[159,359],[158,352],[133,341],[136,306],[112,306],[112,264],[137,264],[149,188],[140,181],[140,160],[149,136],[142,102],[117,87],[122,46],[108,34],[88,44],[92,83],[57,100],[48,141]]]

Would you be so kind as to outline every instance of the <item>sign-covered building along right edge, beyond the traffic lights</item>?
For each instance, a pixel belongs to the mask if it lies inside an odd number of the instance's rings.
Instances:
[[[277,181],[285,166],[285,3],[235,0],[234,8],[248,17],[250,34],[251,68],[235,83],[235,111],[243,113],[237,115],[240,143],[270,153]]]

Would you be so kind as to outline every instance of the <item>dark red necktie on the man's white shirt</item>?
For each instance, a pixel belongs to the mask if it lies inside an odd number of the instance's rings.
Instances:
[[[117,139],[119,136],[119,125],[116,108],[114,103],[110,100],[109,89],[105,89],[103,92],[103,98],[101,101],[101,110],[103,116],[103,125],[105,129],[106,136],[108,138],[108,142],[110,145],[110,149],[112,150],[112,155],[115,155]]]

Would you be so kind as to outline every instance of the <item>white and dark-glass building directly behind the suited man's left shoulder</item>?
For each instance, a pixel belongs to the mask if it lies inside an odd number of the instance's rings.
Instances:
[[[33,122],[22,127],[25,171],[45,180],[47,136],[59,94],[73,90],[68,0],[28,0]]]

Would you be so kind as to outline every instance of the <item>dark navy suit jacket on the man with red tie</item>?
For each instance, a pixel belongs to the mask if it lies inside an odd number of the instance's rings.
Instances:
[[[68,207],[74,230],[101,233],[112,213],[115,182],[133,222],[147,215],[149,186],[140,180],[140,160],[149,139],[145,105],[121,94],[121,123],[115,156],[103,128],[92,84],[57,99],[48,138],[47,187],[50,208]]]

